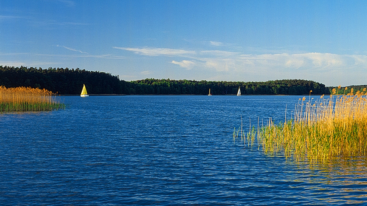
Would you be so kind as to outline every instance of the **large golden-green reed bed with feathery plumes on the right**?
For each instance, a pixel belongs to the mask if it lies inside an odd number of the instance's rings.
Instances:
[[[270,118],[265,126],[250,126],[246,132],[235,128],[233,139],[238,138],[258,147],[266,154],[284,154],[286,159],[308,161],[310,164],[327,163],[340,158],[367,155],[367,99],[366,88],[361,92],[347,87],[333,89],[330,98],[324,95],[314,100],[309,95],[300,98],[294,115],[284,123],[275,124]],[[312,91],[310,91],[311,93]],[[341,95],[340,95],[341,94]],[[241,117],[242,121],[242,117]]]

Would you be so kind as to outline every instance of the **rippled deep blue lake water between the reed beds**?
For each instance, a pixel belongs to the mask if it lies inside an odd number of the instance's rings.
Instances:
[[[1,205],[367,204],[359,158],[299,164],[233,141],[299,96],[61,97],[0,115]]]

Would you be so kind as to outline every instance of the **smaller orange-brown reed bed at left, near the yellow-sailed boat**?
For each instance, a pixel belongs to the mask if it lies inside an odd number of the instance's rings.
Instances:
[[[65,105],[56,94],[46,89],[0,86],[0,113],[52,111],[63,108]]]

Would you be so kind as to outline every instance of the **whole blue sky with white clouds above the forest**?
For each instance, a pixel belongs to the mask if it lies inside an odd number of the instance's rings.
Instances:
[[[367,1],[0,0],[0,65],[367,84]]]

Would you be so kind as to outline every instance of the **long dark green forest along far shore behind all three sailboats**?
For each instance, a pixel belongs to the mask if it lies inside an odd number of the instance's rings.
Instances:
[[[207,95],[209,89],[213,95],[237,94],[283,94],[308,95],[330,94],[334,87],[311,80],[284,79],[267,82],[226,82],[195,81],[170,79],[143,79],[135,81],[120,80],[119,76],[99,71],[87,71],[79,68],[34,68],[10,67],[0,65],[0,85],[5,87],[33,87],[47,89],[61,95],[80,94],[83,84],[89,94],[195,94]]]

